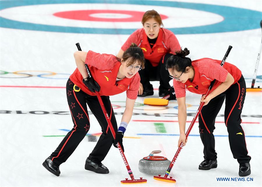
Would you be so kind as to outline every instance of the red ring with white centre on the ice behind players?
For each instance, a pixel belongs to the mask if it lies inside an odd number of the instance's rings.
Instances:
[[[72,10],[56,12],[53,15],[65,19],[75,19],[84,21],[109,21],[109,22],[137,22],[141,21],[145,12],[130,10]],[[161,19],[167,19],[165,15],[160,15]]]

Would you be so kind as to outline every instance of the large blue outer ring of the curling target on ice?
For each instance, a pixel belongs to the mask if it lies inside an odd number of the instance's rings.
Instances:
[[[25,1],[1,1],[1,8],[12,8],[17,6],[41,5],[41,4],[67,4],[67,3],[114,3],[114,4],[133,4],[133,5],[148,5],[148,6],[163,6],[187,8],[212,12],[224,17],[224,20],[205,26],[183,27],[183,28],[167,28],[175,34],[201,34],[201,33],[222,33],[241,30],[250,30],[260,28],[261,12],[248,10],[244,8],[236,8],[229,6],[210,5],[202,3],[187,3],[187,2],[172,2],[172,1],[145,1],[145,0],[126,0],[126,1],[105,1],[105,0],[25,0]],[[146,11],[146,10],[145,10]],[[82,27],[67,27],[67,26],[52,26],[44,24],[33,24],[22,21],[15,21],[0,17],[1,27],[14,28],[24,30],[37,30],[48,32],[62,33],[86,33],[86,34],[132,34],[136,29],[123,28],[82,28]]]

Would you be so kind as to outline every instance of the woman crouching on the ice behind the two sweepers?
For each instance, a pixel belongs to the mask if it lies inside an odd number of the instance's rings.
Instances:
[[[171,78],[168,77],[168,72],[165,69],[166,61],[172,55],[171,53],[175,54],[180,50],[180,44],[174,33],[160,28],[163,23],[157,11],[146,11],[142,18],[142,24],[143,28],[137,29],[129,36],[117,56],[122,57],[132,42],[138,44],[143,49],[145,56],[145,69],[139,71],[141,84],[138,96],[153,95],[153,86],[149,81],[159,80],[159,96],[164,97],[174,92],[174,89],[170,89]],[[175,95],[171,94],[169,99],[175,99]]]

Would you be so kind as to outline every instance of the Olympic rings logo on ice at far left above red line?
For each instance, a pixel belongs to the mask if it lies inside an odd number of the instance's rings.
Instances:
[[[37,75],[34,73],[38,72]],[[41,74],[39,74],[41,72]],[[56,76],[55,76],[56,75]],[[64,78],[60,78],[57,75],[67,75]],[[40,77],[46,79],[68,79],[71,74],[68,73],[55,73],[51,71],[38,71],[38,70],[24,70],[24,71],[2,71],[0,70],[0,78],[29,78],[29,77]]]

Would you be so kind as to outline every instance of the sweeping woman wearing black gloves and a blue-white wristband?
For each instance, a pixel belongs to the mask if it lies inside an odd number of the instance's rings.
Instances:
[[[123,54],[121,61],[114,55],[100,54],[93,51],[77,51],[74,53],[76,70],[66,84],[66,95],[74,127],[56,150],[44,161],[43,166],[56,176],[60,175],[59,165],[65,162],[84,139],[90,121],[87,106],[98,120],[102,134],[93,151],[86,159],[85,169],[96,173],[109,173],[101,161],[105,159],[112,145],[113,136],[98,102],[95,91],[101,95],[108,112],[109,119],[116,131],[113,145],[117,142],[123,148],[122,139],[128,123],[132,117],[134,103],[140,84],[138,71],[144,68],[144,54],[142,49],[132,44]],[[85,64],[91,71],[95,84],[89,80]],[[125,111],[117,130],[116,118],[109,100],[109,96],[126,91]],[[123,148],[124,150],[124,148]]]

